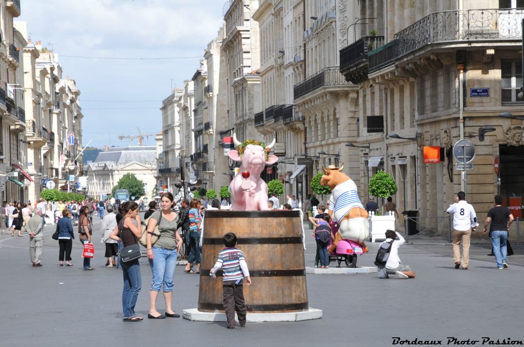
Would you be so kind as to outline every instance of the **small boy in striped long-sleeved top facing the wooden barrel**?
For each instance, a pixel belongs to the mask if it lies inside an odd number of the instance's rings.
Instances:
[[[244,302],[242,279],[246,277],[247,285],[251,284],[251,279],[244,254],[236,248],[236,235],[234,233],[225,234],[224,245],[226,248],[219,252],[219,260],[216,261],[210,275],[216,276],[216,271],[223,268],[222,291],[227,329],[235,329],[235,310],[240,326],[246,326],[246,303]]]

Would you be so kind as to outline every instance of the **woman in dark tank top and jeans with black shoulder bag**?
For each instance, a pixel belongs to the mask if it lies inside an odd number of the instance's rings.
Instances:
[[[134,201],[127,201],[122,206],[123,218],[118,226],[111,232],[110,238],[121,241],[124,247],[137,244],[137,238],[142,235],[140,216],[138,215],[138,204]],[[124,290],[122,292],[122,308],[124,311],[124,321],[136,322],[144,318],[135,314],[136,300],[142,287],[140,274],[140,264],[138,259],[122,262],[122,272],[124,274]]]

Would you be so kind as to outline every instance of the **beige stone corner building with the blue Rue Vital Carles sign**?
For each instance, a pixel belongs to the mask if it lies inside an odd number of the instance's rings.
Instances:
[[[358,86],[354,144],[361,148],[353,152],[363,195],[369,176],[386,170],[399,187],[397,206],[418,211],[419,229],[430,234],[447,233],[439,221],[460,190],[481,220],[497,190],[519,216],[521,121],[498,117],[524,114],[518,97],[524,13],[517,2],[368,0],[357,11],[376,19],[356,28],[356,40],[341,50],[340,69]],[[452,155],[461,139],[476,146],[467,184]],[[440,163],[424,163],[426,146],[441,148]]]

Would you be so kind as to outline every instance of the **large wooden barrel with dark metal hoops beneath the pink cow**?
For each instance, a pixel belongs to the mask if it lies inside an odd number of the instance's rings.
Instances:
[[[237,236],[237,248],[244,253],[252,279],[252,285],[244,284],[247,311],[279,313],[307,310],[301,223],[299,211],[206,211],[199,311],[224,310],[222,270],[217,272],[216,279],[209,273],[219,252],[225,247],[223,236],[230,232]]]

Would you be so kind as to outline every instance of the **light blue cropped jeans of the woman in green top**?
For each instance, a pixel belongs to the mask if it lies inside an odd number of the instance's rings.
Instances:
[[[149,290],[160,292],[163,284],[164,293],[173,291],[174,268],[177,266],[177,249],[151,247],[155,257],[149,259],[149,265],[153,274]]]

